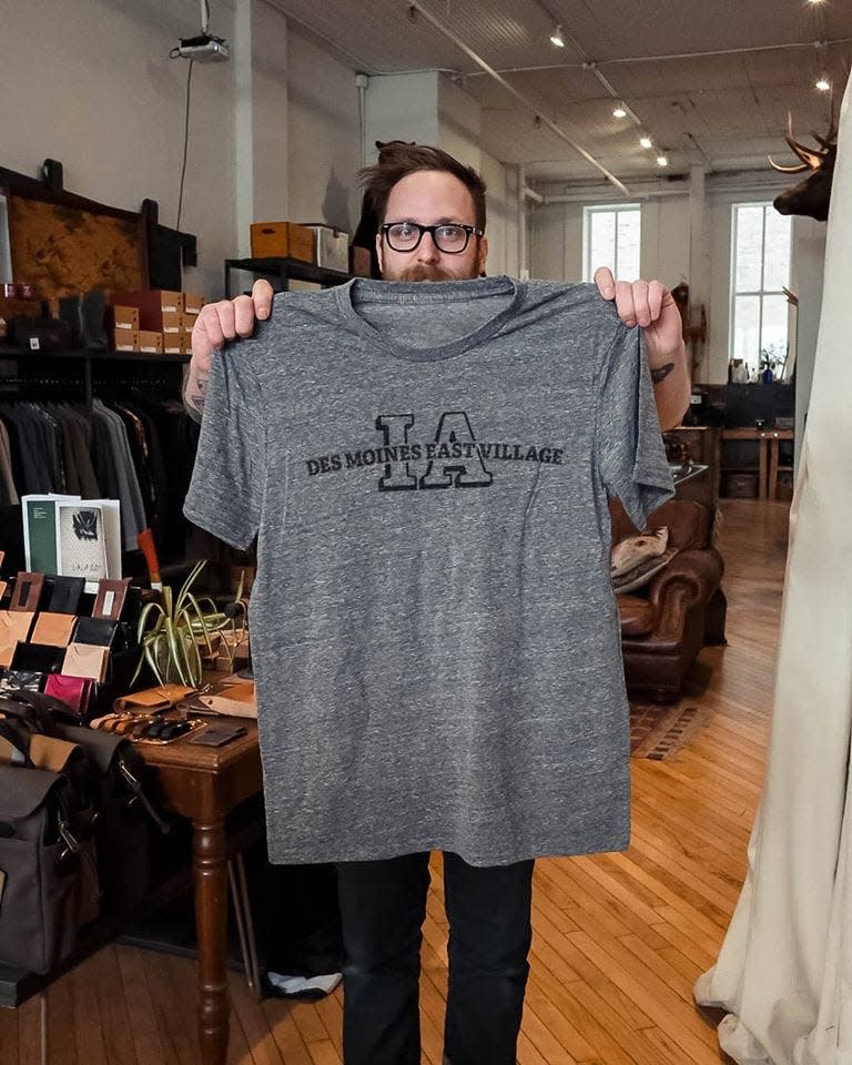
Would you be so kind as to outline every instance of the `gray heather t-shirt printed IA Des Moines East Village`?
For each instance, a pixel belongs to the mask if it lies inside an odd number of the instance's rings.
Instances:
[[[641,527],[672,488],[592,285],[357,278],[214,356],[184,511],[257,536],[273,861],[627,845],[608,493]]]

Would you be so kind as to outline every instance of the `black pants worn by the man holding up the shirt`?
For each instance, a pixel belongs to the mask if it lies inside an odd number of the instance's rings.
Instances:
[[[418,985],[428,853],[341,862],[344,1065],[420,1065]],[[531,939],[532,862],[444,855],[452,1065],[515,1065]]]

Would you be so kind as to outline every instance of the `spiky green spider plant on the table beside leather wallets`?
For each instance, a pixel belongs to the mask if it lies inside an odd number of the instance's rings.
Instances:
[[[161,601],[145,604],[136,627],[142,653],[131,684],[145,663],[160,684],[180,682],[197,688],[201,683],[199,645],[206,643],[212,655],[211,633],[226,628],[230,620],[212,599],[193,595],[192,588],[205,565],[202,560],[193,566],[176,596],[166,585]]]

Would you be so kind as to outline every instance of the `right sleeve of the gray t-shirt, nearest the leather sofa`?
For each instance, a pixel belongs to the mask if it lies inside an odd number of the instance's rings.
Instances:
[[[602,367],[598,396],[598,463],[610,496],[643,529],[648,516],[674,495],[657,417],[641,331],[619,326]]]

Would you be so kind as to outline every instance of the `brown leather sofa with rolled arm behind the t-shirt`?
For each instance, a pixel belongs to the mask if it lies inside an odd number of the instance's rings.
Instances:
[[[613,544],[637,535],[620,503],[610,503],[610,514]],[[700,503],[670,499],[648,520],[648,530],[668,526],[678,554],[647,585],[617,597],[630,696],[672,702],[702,646],[724,642],[724,566],[712,546],[713,517]]]

